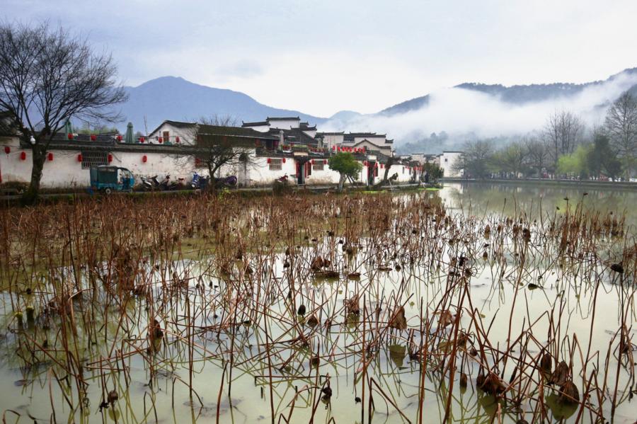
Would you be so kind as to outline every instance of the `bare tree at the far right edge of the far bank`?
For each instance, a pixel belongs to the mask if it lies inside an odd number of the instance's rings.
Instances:
[[[609,108],[605,127],[611,145],[624,164],[626,179],[631,178],[637,149],[637,101],[624,92]]]

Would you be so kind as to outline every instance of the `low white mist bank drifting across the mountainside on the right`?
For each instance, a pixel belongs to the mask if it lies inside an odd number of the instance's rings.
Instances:
[[[522,105],[478,91],[445,88],[431,93],[429,105],[419,110],[393,116],[361,115],[346,122],[328,121],[321,125],[321,130],[386,132],[400,145],[442,131],[452,138],[466,134],[477,137],[526,134],[544,127],[546,119],[556,110],[569,110],[587,125],[599,125],[609,103],[635,84],[637,74],[622,73],[572,96]]]

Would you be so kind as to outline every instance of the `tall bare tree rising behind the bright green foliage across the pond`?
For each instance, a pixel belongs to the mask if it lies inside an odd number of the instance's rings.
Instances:
[[[567,110],[555,111],[546,121],[544,139],[549,147],[553,167],[557,166],[559,157],[571,154],[580,143],[584,125],[582,120]]]

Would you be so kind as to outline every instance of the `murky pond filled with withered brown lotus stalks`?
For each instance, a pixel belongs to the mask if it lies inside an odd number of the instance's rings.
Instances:
[[[553,212],[576,195],[542,193],[4,210],[0,407],[10,423],[633,423],[634,241],[610,202]]]

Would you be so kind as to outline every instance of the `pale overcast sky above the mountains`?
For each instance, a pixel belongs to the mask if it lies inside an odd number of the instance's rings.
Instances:
[[[136,86],[173,75],[329,116],[465,81],[586,82],[637,67],[636,0],[0,0],[113,52]]]

